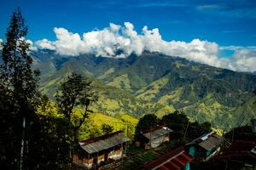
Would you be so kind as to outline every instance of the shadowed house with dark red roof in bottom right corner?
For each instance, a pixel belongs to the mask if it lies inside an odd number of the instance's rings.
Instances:
[[[224,161],[236,162],[245,167],[256,167],[256,142],[235,140],[230,147],[224,149],[218,158]]]

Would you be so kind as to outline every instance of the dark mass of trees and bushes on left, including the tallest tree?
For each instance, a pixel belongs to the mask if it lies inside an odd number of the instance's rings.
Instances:
[[[32,70],[26,33],[26,23],[18,8],[11,17],[3,43],[0,167],[65,169],[68,149],[65,141],[61,141],[61,126],[65,122],[37,113],[37,108],[44,110],[43,105],[48,101],[38,93],[39,71]]]

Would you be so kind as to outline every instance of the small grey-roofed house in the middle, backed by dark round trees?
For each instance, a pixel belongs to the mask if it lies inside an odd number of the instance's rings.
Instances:
[[[145,150],[156,148],[163,142],[169,141],[172,130],[164,126],[149,127],[135,135],[136,145],[143,146]]]

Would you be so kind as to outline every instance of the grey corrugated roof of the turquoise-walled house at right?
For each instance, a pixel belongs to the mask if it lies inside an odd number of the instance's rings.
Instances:
[[[210,136],[208,139],[199,143],[198,145],[200,145],[206,150],[212,150],[216,146],[219,146],[220,144],[222,144],[222,142],[223,142],[223,138],[218,136],[217,134],[214,134]]]

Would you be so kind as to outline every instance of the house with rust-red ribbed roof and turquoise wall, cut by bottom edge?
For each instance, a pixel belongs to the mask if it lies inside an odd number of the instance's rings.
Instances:
[[[193,160],[192,156],[189,156],[183,146],[167,153],[164,156],[160,156],[154,161],[150,161],[144,165],[146,170],[189,170],[189,162]]]

